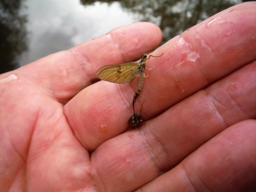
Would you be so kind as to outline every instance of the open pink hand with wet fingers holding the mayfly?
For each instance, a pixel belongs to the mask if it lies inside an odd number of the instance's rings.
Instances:
[[[1,74],[1,191],[254,190],[255,23],[255,2],[235,5],[156,49],[135,104],[140,129],[126,131],[138,79],[95,73],[157,48],[154,24]]]

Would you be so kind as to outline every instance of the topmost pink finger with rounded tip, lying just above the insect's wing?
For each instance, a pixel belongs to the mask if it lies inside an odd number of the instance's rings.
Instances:
[[[151,51],[162,40],[152,23],[135,23],[114,29],[101,37],[57,52],[16,71],[49,90],[61,102],[73,98],[96,81],[96,70],[103,65],[134,60]]]

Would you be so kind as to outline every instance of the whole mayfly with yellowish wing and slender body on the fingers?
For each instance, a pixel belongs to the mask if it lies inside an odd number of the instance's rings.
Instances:
[[[134,104],[136,99],[138,98],[144,82],[145,76],[145,68],[146,68],[146,60],[149,60],[150,57],[161,57],[163,54],[159,56],[149,55],[149,53],[142,54],[142,58],[138,60],[138,62],[129,62],[123,63],[119,65],[106,65],[99,68],[96,72],[96,75],[101,80],[107,80],[108,82],[113,82],[116,84],[127,84],[132,82],[135,77],[140,77],[140,81],[138,84],[138,88],[136,93],[133,96],[132,107],[133,107],[133,118],[136,119]],[[137,113],[136,113],[137,114]]]

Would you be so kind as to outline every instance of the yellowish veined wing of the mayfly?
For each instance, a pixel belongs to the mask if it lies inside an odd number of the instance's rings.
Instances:
[[[132,82],[134,77],[140,74],[141,63],[123,63],[119,65],[107,65],[98,69],[96,75],[101,80],[107,80],[116,84],[126,84]]]

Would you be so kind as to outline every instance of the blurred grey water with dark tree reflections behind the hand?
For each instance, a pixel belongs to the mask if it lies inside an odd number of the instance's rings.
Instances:
[[[238,0],[1,0],[0,73],[138,21],[157,24],[162,44]]]

